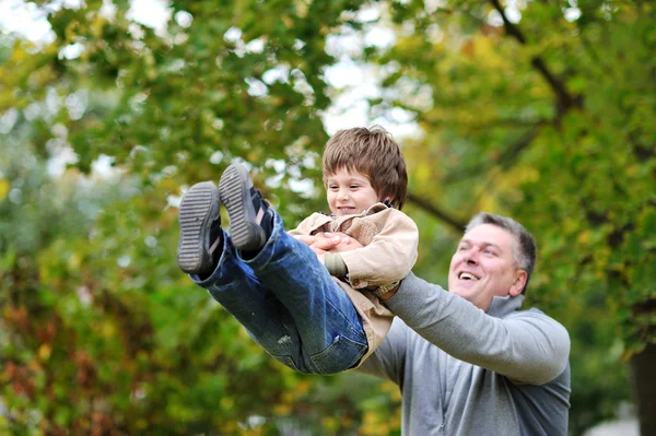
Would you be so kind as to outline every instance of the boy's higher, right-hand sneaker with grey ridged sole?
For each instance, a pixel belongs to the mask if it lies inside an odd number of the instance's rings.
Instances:
[[[269,204],[253,187],[248,169],[242,164],[229,166],[219,181],[221,202],[230,216],[230,237],[235,248],[257,251],[271,236],[273,226]]]

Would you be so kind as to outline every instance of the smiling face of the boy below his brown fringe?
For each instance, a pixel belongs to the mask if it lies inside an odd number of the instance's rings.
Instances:
[[[358,172],[340,168],[326,182],[328,207],[335,215],[354,215],[380,201],[370,180]]]

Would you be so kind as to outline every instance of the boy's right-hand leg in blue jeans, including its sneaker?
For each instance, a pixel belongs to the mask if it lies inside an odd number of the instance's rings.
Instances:
[[[349,369],[366,353],[360,315],[344,291],[305,244],[289,236],[280,217],[261,200],[243,165],[231,165],[219,185],[236,255],[253,269],[291,314],[298,330],[303,372]],[[295,338],[289,338],[295,340]]]

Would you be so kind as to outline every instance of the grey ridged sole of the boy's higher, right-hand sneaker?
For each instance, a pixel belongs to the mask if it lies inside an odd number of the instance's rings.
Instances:
[[[251,186],[248,169],[239,164],[229,166],[219,181],[219,196],[230,216],[233,247],[243,251],[258,250],[265,245],[263,231],[253,210]]]

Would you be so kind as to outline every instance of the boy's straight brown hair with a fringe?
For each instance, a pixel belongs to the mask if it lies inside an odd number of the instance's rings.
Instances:
[[[365,176],[380,198],[401,210],[408,190],[406,161],[399,144],[380,126],[339,130],[324,150],[324,185],[345,168]]]

